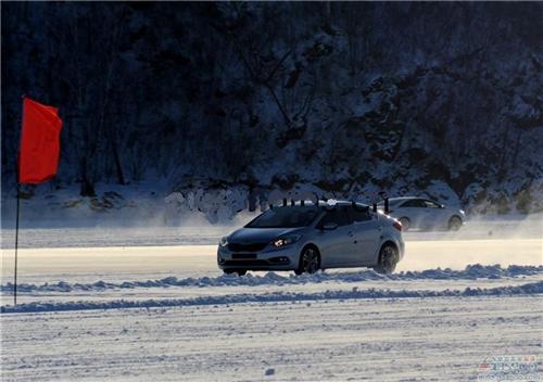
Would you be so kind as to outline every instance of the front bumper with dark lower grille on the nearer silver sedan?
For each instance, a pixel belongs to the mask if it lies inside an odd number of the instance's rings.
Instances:
[[[233,252],[218,246],[217,265],[220,269],[293,270],[300,258],[299,245],[280,249],[264,249],[258,252]]]

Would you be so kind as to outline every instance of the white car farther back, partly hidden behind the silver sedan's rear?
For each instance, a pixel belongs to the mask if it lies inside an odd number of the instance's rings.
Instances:
[[[383,209],[384,202],[378,206]],[[466,221],[466,214],[462,209],[415,196],[389,199],[388,215],[400,220],[403,231],[408,229],[457,231]]]

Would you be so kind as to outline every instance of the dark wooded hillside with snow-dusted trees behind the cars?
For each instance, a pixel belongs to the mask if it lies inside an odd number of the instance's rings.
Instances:
[[[541,3],[2,3],[2,180],[21,96],[55,182],[190,177],[542,191]]]

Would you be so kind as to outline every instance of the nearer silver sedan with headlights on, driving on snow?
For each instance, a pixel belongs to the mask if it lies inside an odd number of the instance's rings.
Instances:
[[[367,205],[274,207],[220,240],[217,264],[226,273],[372,267],[392,272],[404,255],[400,222]]]

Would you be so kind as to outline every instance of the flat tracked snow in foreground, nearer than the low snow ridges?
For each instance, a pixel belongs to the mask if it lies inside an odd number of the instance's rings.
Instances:
[[[519,295],[2,315],[2,380],[477,380],[489,357],[541,359],[542,314]]]

